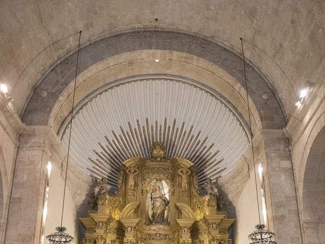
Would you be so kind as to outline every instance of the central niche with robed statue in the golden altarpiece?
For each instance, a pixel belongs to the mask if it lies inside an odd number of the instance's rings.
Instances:
[[[146,224],[169,225],[170,197],[166,182],[164,180],[152,180],[148,193],[151,193],[151,195],[147,205],[149,221]]]

